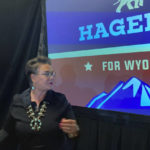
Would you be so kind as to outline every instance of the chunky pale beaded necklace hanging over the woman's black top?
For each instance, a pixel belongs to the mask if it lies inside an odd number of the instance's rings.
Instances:
[[[42,126],[41,117],[45,116],[46,109],[47,109],[46,102],[43,102],[39,112],[37,113],[37,115],[35,115],[32,106],[29,105],[27,107],[27,115],[31,119],[30,127],[32,130],[38,132],[41,129]]]

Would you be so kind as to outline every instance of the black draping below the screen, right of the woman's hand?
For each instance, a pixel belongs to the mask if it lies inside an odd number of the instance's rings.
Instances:
[[[150,116],[73,107],[80,125],[75,150],[149,150]]]

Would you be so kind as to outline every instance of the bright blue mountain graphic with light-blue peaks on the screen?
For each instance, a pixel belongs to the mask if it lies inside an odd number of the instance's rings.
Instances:
[[[150,114],[150,86],[131,77],[126,82],[120,81],[110,93],[102,92],[95,96],[86,107]]]

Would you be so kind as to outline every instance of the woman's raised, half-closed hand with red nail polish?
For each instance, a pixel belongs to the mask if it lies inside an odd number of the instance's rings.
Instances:
[[[59,123],[59,127],[64,133],[68,134],[70,138],[76,137],[79,134],[79,126],[76,120],[63,118]]]

